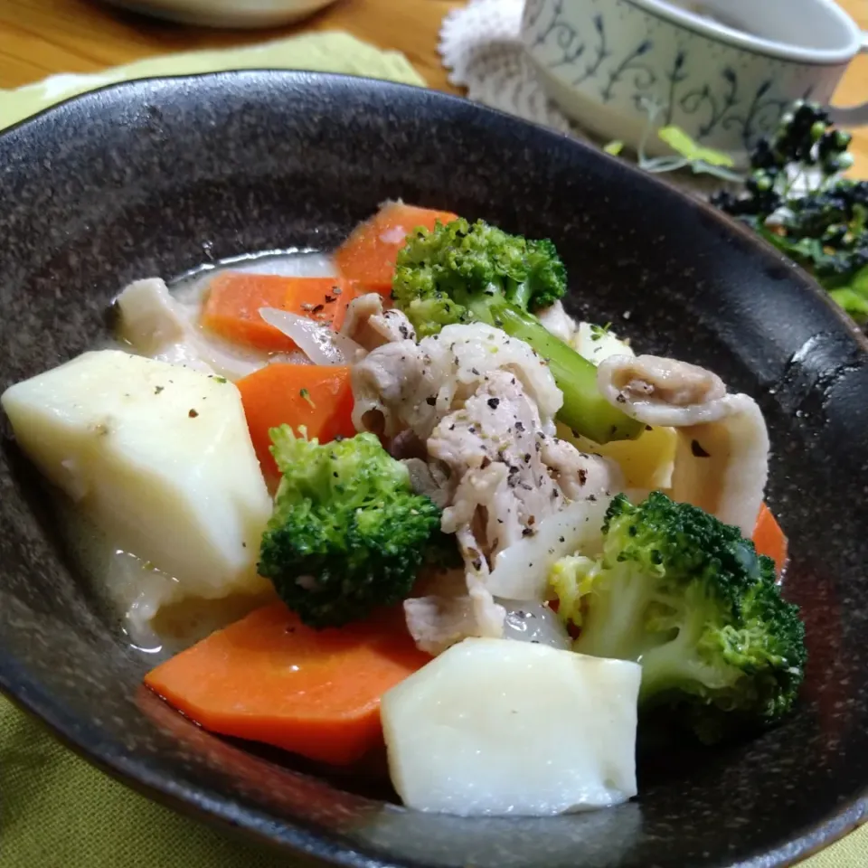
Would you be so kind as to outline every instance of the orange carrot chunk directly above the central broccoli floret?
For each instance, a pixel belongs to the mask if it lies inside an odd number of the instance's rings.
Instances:
[[[269,446],[269,429],[302,425],[320,443],[353,437],[353,388],[350,369],[338,365],[272,363],[235,383],[266,478],[278,476]]]

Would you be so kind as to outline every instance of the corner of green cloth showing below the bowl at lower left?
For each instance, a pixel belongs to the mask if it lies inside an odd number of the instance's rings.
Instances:
[[[308,868],[139,796],[0,697],[3,868]]]

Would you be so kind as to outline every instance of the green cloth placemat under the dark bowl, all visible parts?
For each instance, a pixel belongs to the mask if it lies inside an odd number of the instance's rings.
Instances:
[[[400,0],[398,0],[400,2]],[[0,90],[0,128],[115,81],[262,67],[424,80],[399,52],[346,33],[312,33],[250,48],[189,52],[96,75],[57,75]],[[0,865],[3,868],[302,868],[308,860],[239,843],[138,796],[90,767],[0,697]],[[803,868],[866,868],[868,827]]]

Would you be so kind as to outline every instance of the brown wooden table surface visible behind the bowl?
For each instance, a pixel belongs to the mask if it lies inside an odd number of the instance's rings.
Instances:
[[[865,0],[838,0],[868,30]],[[282,28],[345,30],[381,48],[398,49],[429,85],[454,90],[437,53],[443,16],[460,0],[338,0],[302,24]],[[0,0],[0,88],[14,88],[52,72],[91,72],[166,52],[258,42],[278,35],[209,31],[117,12],[96,0]],[[868,56],[857,58],[836,99],[868,98]],[[854,175],[868,177],[868,127],[854,131]]]

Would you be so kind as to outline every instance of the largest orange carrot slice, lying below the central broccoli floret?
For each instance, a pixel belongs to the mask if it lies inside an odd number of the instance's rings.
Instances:
[[[157,666],[145,684],[206,730],[346,765],[382,744],[382,694],[429,660],[401,609],[314,630],[274,603]]]

